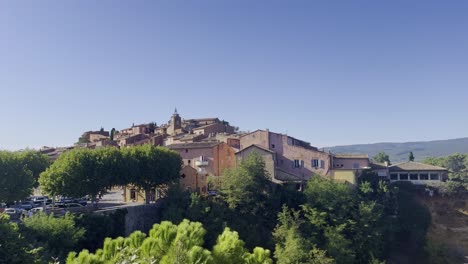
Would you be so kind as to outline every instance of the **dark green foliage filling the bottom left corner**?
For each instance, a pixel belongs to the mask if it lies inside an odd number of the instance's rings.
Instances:
[[[36,259],[18,225],[8,215],[0,214],[0,263],[35,263]]]

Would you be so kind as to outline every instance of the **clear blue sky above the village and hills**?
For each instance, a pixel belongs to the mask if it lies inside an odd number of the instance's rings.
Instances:
[[[1,1],[0,148],[220,117],[315,146],[468,136],[468,1]]]

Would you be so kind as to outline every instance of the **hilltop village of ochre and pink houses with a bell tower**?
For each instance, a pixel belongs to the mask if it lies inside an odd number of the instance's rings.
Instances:
[[[253,152],[263,157],[273,182],[294,184],[298,190],[313,175],[356,184],[360,171],[372,170],[384,180],[424,184],[443,181],[448,174],[445,168],[412,161],[390,165],[373,162],[368,155],[325,152],[306,141],[269,130],[239,132],[219,118],[183,119],[177,109],[167,124],[88,131],[75,146],[45,147],[41,152],[54,160],[73,148],[125,148],[143,144],[178,152],[183,160],[181,185],[186,190],[205,194],[213,191],[224,170],[236,167]],[[126,201],[141,201],[145,197],[131,186],[125,189],[124,196]]]

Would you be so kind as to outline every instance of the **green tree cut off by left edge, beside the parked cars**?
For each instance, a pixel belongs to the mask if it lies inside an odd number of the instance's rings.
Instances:
[[[0,202],[10,203],[28,197],[34,178],[18,153],[0,151]]]

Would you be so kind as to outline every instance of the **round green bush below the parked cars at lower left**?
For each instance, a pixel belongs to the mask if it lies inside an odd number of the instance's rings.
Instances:
[[[75,225],[70,213],[63,217],[35,214],[23,220],[21,232],[35,247],[45,249],[46,252],[42,254],[44,260],[51,257],[64,259],[68,252],[77,249],[85,235],[85,230]]]

